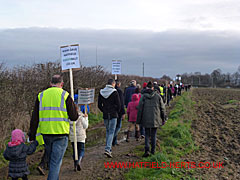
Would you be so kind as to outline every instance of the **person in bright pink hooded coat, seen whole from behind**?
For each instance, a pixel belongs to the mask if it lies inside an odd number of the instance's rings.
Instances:
[[[133,94],[132,95],[132,100],[131,102],[128,104],[128,108],[127,108],[127,114],[128,114],[128,122],[130,123],[129,128],[128,128],[128,132],[127,132],[127,139],[126,141],[129,142],[129,137],[130,137],[130,133],[131,131],[134,130],[134,127],[136,128],[136,140],[138,141],[139,137],[140,137],[140,129],[139,129],[139,125],[136,124],[136,120],[137,120],[137,106],[139,103],[139,95],[138,94]]]

